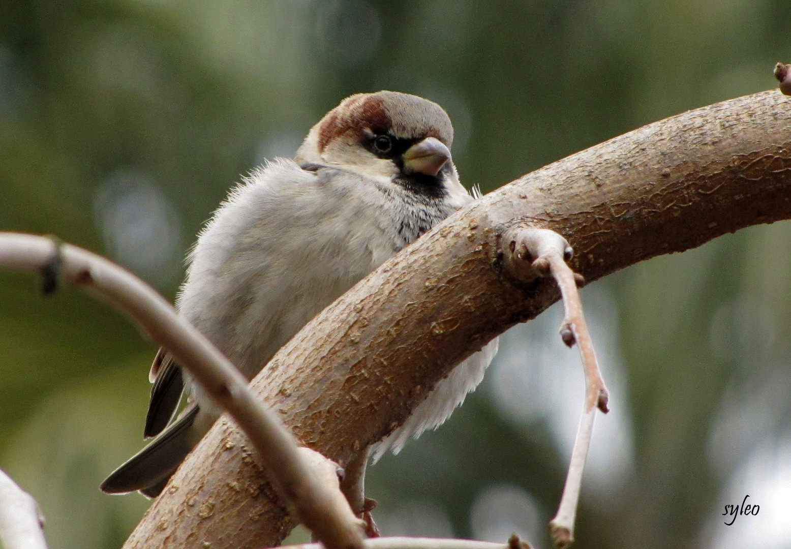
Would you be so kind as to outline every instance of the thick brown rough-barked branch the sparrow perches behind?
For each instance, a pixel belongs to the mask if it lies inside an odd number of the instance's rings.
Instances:
[[[685,112],[540,168],[448,218],[316,316],[252,388],[305,445],[343,465],[398,426],[452,365],[558,299],[550,279],[524,283],[501,271],[505,230],[561,233],[574,270],[592,281],[786,218],[791,98],[770,91]],[[264,547],[292,526],[223,418],[125,547]]]

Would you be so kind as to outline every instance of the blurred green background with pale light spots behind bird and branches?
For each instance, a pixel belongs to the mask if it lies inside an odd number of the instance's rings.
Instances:
[[[202,222],[351,93],[451,115],[490,191],[604,139],[774,87],[787,0],[0,2],[0,230],[54,233],[172,298]],[[791,131],[791,129],[789,129]],[[119,547],[147,501],[98,485],[142,445],[155,352],[75,290],[0,273],[0,467],[53,548]],[[576,547],[791,547],[791,225],[584,290],[613,392]],[[581,403],[557,309],[514,328],[436,432],[369,472],[385,533],[548,547]],[[759,515],[726,526],[749,494]]]

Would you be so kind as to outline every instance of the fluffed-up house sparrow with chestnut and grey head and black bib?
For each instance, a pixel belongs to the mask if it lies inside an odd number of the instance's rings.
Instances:
[[[180,314],[251,379],[308,320],[473,200],[451,161],[452,140],[448,115],[429,100],[387,91],[347,97],[293,160],[257,168],[230,192],[189,256]],[[494,340],[457,365],[373,446],[374,460],[444,422],[496,352]],[[221,413],[165,350],[149,380],[145,436],[156,438],[104,481],[104,492],[157,496]],[[171,422],[183,389],[189,403]]]

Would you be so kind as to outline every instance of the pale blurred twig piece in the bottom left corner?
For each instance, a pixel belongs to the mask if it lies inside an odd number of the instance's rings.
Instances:
[[[47,549],[44,516],[32,495],[0,469],[0,541],[6,549]]]

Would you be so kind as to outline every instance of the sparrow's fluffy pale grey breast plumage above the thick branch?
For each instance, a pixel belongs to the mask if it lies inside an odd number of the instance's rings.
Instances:
[[[471,200],[411,195],[343,168],[278,159],[221,204],[190,256],[179,307],[248,376],[313,316]]]

